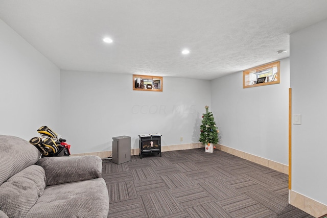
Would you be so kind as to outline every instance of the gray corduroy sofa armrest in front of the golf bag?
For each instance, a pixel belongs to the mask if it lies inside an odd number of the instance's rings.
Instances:
[[[98,156],[44,157],[37,161],[44,168],[46,185],[57,185],[99,178],[102,160]]]

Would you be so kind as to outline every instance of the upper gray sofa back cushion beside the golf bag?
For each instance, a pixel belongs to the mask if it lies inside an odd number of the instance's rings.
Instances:
[[[0,185],[22,169],[36,163],[41,153],[30,142],[0,135]]]

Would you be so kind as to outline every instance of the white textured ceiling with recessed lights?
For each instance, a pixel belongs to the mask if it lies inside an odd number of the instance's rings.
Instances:
[[[0,0],[0,18],[60,69],[210,80],[289,57],[327,1]]]

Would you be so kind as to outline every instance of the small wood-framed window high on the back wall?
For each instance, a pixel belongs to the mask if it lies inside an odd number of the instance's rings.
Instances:
[[[162,77],[133,75],[133,90],[162,91]]]

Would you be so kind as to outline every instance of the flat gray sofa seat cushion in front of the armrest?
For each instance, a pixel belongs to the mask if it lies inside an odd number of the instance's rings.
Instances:
[[[46,186],[27,218],[107,217],[108,189],[103,178]]]

